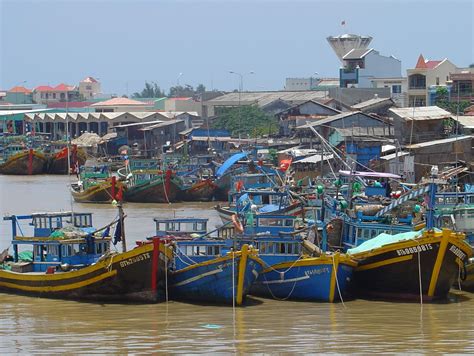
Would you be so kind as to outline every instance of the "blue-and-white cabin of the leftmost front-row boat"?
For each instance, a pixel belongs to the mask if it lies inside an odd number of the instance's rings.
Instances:
[[[10,215],[14,262],[17,272],[45,272],[50,268],[80,268],[90,265],[110,249],[110,237],[95,238],[91,213],[36,213]],[[33,233],[21,226],[29,220]],[[19,250],[32,249],[31,261],[20,261]],[[54,272],[54,269],[53,271]]]

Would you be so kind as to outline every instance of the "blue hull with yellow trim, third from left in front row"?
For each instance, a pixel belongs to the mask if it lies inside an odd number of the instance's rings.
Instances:
[[[267,267],[250,294],[283,300],[334,302],[350,294],[356,263],[345,255],[302,258]],[[336,271],[336,273],[335,273]]]

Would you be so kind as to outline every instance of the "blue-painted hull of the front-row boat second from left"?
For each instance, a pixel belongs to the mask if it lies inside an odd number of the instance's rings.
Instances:
[[[240,256],[236,257],[234,262],[230,257],[224,261],[222,258],[217,258],[215,261],[198,263],[192,268],[172,272],[169,282],[171,298],[232,304],[233,299],[237,299],[240,262]],[[249,293],[251,285],[262,269],[263,266],[258,260],[250,257],[247,259],[244,269],[243,298]]]

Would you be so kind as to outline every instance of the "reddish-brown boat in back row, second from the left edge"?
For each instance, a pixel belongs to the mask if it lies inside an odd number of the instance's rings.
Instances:
[[[72,145],[70,148],[61,147],[49,155],[46,172],[49,174],[68,174],[71,170],[74,171],[83,166],[86,160],[86,152],[77,145]]]

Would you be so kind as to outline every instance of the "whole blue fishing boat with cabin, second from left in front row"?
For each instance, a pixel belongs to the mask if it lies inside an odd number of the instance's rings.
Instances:
[[[193,238],[206,230],[206,219],[155,221],[157,235],[164,233],[173,239],[174,263],[168,282],[171,298],[235,305],[245,301],[263,267],[256,249],[249,245],[235,249],[230,239]]]

